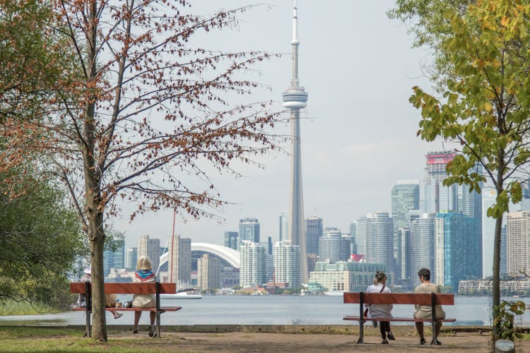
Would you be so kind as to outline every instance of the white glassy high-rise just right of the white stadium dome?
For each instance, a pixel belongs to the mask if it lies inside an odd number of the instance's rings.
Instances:
[[[266,249],[259,243],[242,241],[240,244],[240,286],[252,287],[267,282]]]

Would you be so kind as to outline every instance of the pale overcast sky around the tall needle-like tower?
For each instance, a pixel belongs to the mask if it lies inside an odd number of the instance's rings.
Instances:
[[[292,0],[267,0],[245,11],[240,26],[199,37],[203,45],[223,50],[261,50],[285,54],[249,72],[249,79],[269,87],[256,93],[281,107],[291,77]],[[194,0],[192,11],[254,4],[251,0]],[[390,191],[396,181],[423,179],[425,155],[442,150],[441,142],[416,137],[420,112],[409,102],[412,87],[430,88],[422,73],[426,49],[411,49],[408,26],[387,18],[394,1],[298,0],[300,85],[309,98],[302,111],[302,182],[305,217],[317,215],[324,227],[349,232],[358,217],[391,211]],[[287,114],[287,113],[286,113]],[[278,126],[288,131],[288,126]],[[264,169],[242,165],[242,177],[214,176],[220,196],[230,202],[217,215],[223,220],[177,218],[175,233],[192,242],[223,244],[226,231],[256,217],[261,241],[278,240],[278,217],[289,208],[290,156],[262,156]],[[130,205],[113,221],[125,234],[125,246],[137,246],[141,235],[172,234],[171,210],[138,216],[129,222]],[[129,213],[128,213],[129,212]]]

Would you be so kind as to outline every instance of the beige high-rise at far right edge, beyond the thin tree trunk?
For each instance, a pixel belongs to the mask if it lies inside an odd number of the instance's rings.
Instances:
[[[508,213],[506,222],[507,275],[530,269],[530,211]]]

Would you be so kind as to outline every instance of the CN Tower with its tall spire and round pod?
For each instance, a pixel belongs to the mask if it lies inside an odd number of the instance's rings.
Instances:
[[[291,168],[290,168],[290,215],[289,237],[291,244],[300,248],[300,282],[309,282],[307,255],[305,252],[304,197],[302,193],[302,153],[300,151],[300,109],[307,105],[307,93],[298,82],[298,14],[295,0],[293,12],[293,78],[290,86],[283,92],[283,107],[290,110],[291,126]]]

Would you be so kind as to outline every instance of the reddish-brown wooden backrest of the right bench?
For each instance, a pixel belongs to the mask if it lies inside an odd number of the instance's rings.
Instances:
[[[417,304],[431,305],[431,294],[421,293],[344,293],[344,303],[360,304],[363,294],[364,304]],[[437,305],[454,305],[454,294],[435,294]]]

